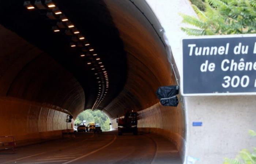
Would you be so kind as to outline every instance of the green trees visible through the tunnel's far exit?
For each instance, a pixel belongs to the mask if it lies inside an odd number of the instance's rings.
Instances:
[[[75,124],[80,124],[80,122],[83,122],[83,120],[86,120],[87,124],[89,122],[95,122],[99,124],[101,126],[102,131],[108,131],[110,129],[110,120],[108,116],[106,116],[106,114],[103,113],[101,110],[85,110],[84,112],[78,115],[78,117],[75,120]]]

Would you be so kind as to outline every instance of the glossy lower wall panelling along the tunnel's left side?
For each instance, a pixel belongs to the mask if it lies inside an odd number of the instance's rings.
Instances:
[[[14,136],[18,146],[61,137],[74,125],[66,122],[63,109],[52,105],[0,98],[0,106],[0,136]]]

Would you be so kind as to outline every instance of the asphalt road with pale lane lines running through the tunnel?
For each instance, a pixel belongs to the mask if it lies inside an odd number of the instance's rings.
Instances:
[[[181,160],[173,144],[160,136],[117,136],[116,131],[111,131],[76,134],[75,138],[20,147],[15,154],[0,154],[0,163],[181,164]]]

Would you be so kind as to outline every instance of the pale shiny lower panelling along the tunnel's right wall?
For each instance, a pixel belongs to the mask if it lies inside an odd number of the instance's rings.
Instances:
[[[182,120],[185,120],[185,116],[181,104],[177,107],[169,107],[157,103],[138,113],[138,128],[140,131],[157,133],[172,141],[183,157],[185,122],[182,122]]]

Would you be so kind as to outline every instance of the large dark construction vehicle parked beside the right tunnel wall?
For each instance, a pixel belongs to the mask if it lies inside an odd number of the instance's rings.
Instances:
[[[121,136],[123,133],[138,134],[137,128],[137,112],[126,112],[123,118],[117,118],[118,123],[118,135]]]

